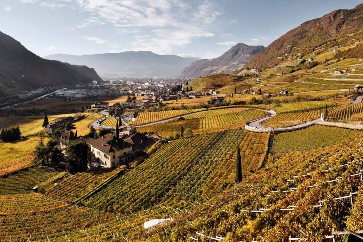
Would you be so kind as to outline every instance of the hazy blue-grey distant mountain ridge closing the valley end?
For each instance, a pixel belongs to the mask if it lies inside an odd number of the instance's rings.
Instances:
[[[150,51],[127,51],[74,56],[53,54],[49,60],[87,65],[95,68],[102,77],[170,77],[178,75],[185,66],[195,61],[176,55],[158,55]]]

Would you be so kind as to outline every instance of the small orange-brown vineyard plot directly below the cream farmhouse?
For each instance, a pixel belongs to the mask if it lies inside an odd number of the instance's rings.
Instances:
[[[46,194],[60,200],[73,202],[122,170],[123,167],[112,170],[78,172],[57,185],[53,185],[46,191]]]

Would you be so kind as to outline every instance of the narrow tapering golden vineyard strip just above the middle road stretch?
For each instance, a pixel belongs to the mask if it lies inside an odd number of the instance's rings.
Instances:
[[[140,124],[152,123],[163,119],[174,118],[183,114],[190,114],[193,112],[199,112],[204,110],[207,110],[207,108],[179,109],[158,112],[140,112],[139,115],[136,117],[136,120],[130,121],[129,124],[132,126],[137,126]]]

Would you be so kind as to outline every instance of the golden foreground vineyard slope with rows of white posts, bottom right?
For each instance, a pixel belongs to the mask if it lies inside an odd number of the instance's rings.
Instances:
[[[325,241],[333,229],[360,230],[362,141],[360,137],[325,149],[274,155],[266,169],[196,206],[191,214],[183,213],[177,221],[160,226],[148,234],[147,241],[156,234],[155,241],[178,241],[173,238],[187,240],[196,233],[226,241],[260,236],[265,241],[289,241],[289,237]],[[335,239],[348,241],[344,235]]]

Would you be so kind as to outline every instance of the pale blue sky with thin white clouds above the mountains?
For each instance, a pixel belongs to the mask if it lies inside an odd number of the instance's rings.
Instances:
[[[0,0],[0,31],[44,57],[152,51],[216,58],[268,46],[301,23],[356,0]]]

